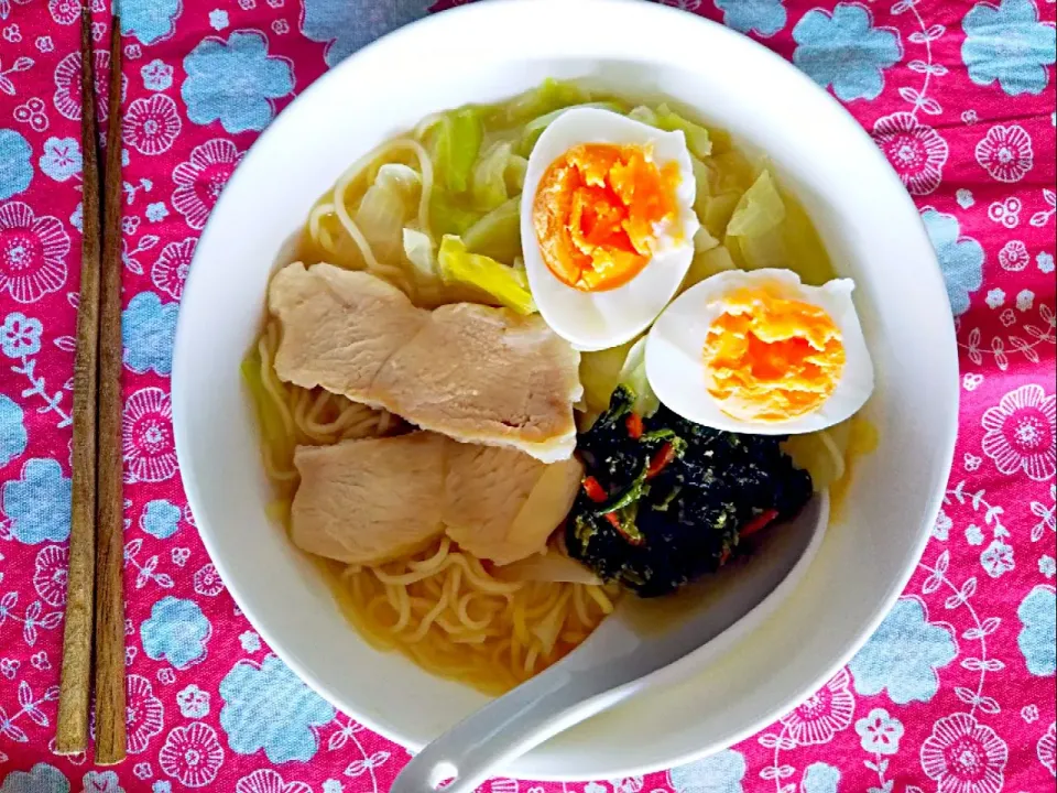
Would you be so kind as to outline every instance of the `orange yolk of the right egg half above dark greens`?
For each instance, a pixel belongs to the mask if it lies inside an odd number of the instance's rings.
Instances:
[[[705,340],[708,392],[745,421],[783,421],[817,410],[844,368],[840,329],[822,308],[740,290],[723,300]]]

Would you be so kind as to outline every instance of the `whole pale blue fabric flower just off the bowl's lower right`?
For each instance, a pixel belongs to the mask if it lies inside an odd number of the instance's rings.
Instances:
[[[896,600],[878,632],[848,664],[860,694],[887,688],[894,703],[928,702],[939,689],[936,670],[958,654],[950,631],[931,624],[916,598]]]

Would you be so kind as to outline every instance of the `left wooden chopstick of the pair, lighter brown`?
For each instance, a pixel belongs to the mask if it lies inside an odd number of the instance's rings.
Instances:
[[[77,357],[74,362],[74,448],[69,521],[69,573],[66,624],[58,689],[55,751],[76,754],[88,747],[95,595],[96,388],[99,351],[99,130],[91,13],[80,14],[80,143],[84,162],[84,220],[80,248],[80,303],[77,307]]]

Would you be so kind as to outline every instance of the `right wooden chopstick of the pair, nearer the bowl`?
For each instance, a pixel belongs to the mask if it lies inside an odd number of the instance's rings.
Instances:
[[[121,22],[110,30],[110,121],[103,169],[96,506],[96,763],[124,759],[121,492]]]

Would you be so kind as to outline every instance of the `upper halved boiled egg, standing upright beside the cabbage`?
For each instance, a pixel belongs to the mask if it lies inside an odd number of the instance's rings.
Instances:
[[[521,238],[555,333],[599,350],[649,327],[694,257],[695,194],[683,132],[598,108],[551,122],[528,159]]]

